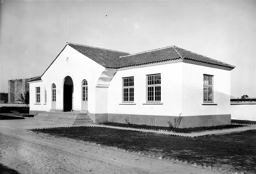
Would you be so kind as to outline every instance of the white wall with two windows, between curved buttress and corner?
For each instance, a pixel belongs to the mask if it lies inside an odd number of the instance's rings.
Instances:
[[[176,62],[176,63],[174,63]],[[161,103],[146,103],[146,75],[161,73]],[[134,103],[122,104],[122,78],[134,76]],[[118,69],[108,88],[108,113],[178,116],[182,111],[182,62]]]

